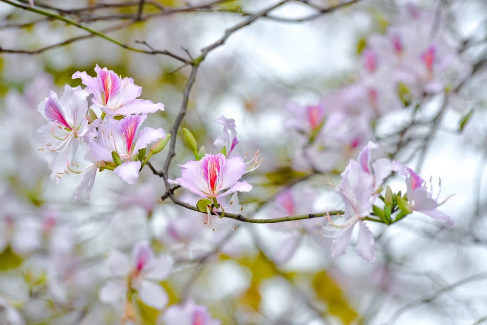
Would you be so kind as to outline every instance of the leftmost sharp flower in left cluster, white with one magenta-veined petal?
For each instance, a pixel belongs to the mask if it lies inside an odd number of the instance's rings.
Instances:
[[[61,98],[51,91],[48,98],[38,106],[38,111],[48,124],[38,129],[44,139],[45,160],[52,169],[51,179],[58,182],[56,173],[63,171],[66,160],[71,160],[81,138],[88,132],[87,97],[89,92],[81,87],[66,86]]]

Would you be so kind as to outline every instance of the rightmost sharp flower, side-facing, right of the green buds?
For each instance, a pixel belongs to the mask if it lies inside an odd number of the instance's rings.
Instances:
[[[406,177],[406,185],[408,191],[406,197],[408,199],[408,209],[410,211],[417,211],[424,215],[430,216],[433,219],[445,222],[445,226],[451,228],[455,225],[455,221],[447,216],[445,213],[438,211],[437,208],[445,203],[450,197],[447,197],[442,202],[438,203],[438,198],[441,194],[441,180],[438,181],[439,191],[436,198],[432,195],[431,180],[429,184],[417,175],[410,167],[405,166],[399,162],[393,163],[394,171]]]

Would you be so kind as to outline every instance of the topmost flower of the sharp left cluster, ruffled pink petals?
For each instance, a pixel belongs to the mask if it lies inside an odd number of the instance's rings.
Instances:
[[[92,101],[107,115],[131,115],[154,113],[164,110],[162,103],[154,104],[150,100],[137,99],[142,87],[133,83],[132,78],[123,78],[107,68],[94,68],[96,77],[86,72],[75,72],[73,79],[80,78],[83,85],[94,95]]]

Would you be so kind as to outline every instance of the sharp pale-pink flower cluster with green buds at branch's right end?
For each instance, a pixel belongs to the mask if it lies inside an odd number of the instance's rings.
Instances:
[[[331,247],[333,257],[345,253],[358,224],[356,252],[367,261],[375,260],[375,239],[365,224],[367,220],[391,225],[416,211],[445,222],[447,227],[455,224],[450,217],[437,210],[446,199],[438,202],[439,193],[435,198],[432,197],[431,182],[427,184],[410,167],[400,162],[375,158],[378,149],[378,144],[369,142],[358,155],[358,159],[351,160],[341,174],[341,182],[336,192],[343,199],[345,214],[340,223],[332,221],[328,216],[327,226],[335,232]],[[382,196],[380,193],[384,189],[384,181],[393,172],[406,177],[407,191],[404,195],[400,191],[395,194],[386,186]],[[441,187],[441,181],[439,186]],[[382,201],[383,208],[375,205],[378,199]]]

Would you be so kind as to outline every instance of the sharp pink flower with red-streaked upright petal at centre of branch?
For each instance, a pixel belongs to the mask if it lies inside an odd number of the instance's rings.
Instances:
[[[207,153],[200,161],[180,166],[182,177],[169,182],[179,184],[200,197],[219,198],[252,189],[246,181],[239,181],[245,174],[245,162],[240,157],[225,158],[220,153]]]

